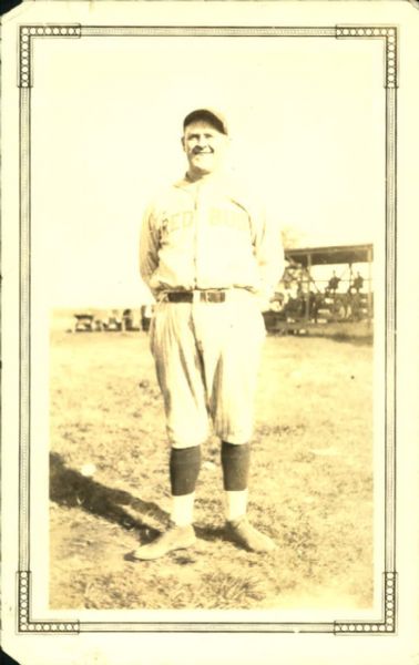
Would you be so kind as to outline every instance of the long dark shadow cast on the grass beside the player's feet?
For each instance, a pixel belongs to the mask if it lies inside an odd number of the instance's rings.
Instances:
[[[50,499],[59,505],[80,508],[123,529],[136,529],[143,542],[159,533],[147,518],[167,523],[168,514],[152,501],[143,501],[130,492],[108,488],[64,464],[60,454],[50,454]],[[132,509],[134,516],[126,509]]]

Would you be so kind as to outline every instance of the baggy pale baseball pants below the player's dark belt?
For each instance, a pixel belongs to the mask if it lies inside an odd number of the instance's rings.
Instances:
[[[224,303],[157,303],[150,346],[173,448],[200,446],[214,432],[229,443],[252,438],[265,338],[256,297],[231,289]]]

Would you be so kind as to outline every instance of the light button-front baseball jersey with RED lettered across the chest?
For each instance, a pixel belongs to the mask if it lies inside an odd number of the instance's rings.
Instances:
[[[166,290],[246,288],[266,303],[284,265],[278,224],[217,176],[186,176],[144,214],[140,268],[156,299]]]

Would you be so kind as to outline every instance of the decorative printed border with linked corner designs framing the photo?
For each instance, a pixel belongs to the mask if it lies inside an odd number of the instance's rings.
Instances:
[[[316,37],[374,39],[384,45],[386,89],[386,415],[385,415],[385,561],[382,616],[372,622],[329,623],[153,623],[43,621],[31,613],[30,572],[30,252],[31,252],[31,88],[34,84],[33,45],[38,39],[82,37]],[[397,88],[398,29],[395,25],[335,27],[116,27],[80,24],[20,25],[18,29],[18,88],[20,89],[20,431],[19,431],[19,571],[17,575],[18,633],[71,634],[93,632],[263,632],[382,635],[397,630],[396,573],[396,212],[397,212]]]

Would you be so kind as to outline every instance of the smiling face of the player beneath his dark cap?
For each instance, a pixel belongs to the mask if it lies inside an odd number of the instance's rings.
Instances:
[[[182,145],[190,163],[190,173],[205,175],[216,171],[224,161],[227,143],[227,136],[204,120],[187,125]]]

